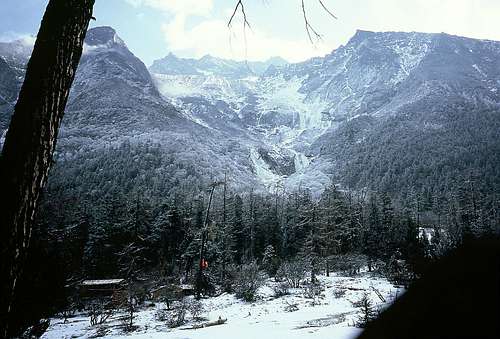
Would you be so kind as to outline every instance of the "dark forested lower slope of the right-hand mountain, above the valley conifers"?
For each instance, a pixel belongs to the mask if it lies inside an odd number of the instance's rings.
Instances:
[[[500,114],[474,107],[416,109],[377,120],[362,116],[315,143],[336,182],[405,199],[408,186],[439,196],[464,185],[500,191]]]

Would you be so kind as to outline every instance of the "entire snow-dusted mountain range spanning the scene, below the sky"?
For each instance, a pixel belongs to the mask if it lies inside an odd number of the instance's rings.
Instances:
[[[29,53],[2,44],[0,55],[5,130],[20,55]],[[482,161],[472,148],[495,167],[499,88],[495,41],[358,31],[325,57],[297,64],[169,54],[148,72],[112,28],[100,27],[87,34],[58,152],[85,158],[123,143],[155,144],[176,166],[205,178],[229,172],[240,187],[319,191],[333,178],[387,189],[395,177],[401,186],[429,180],[426,171],[465,173]],[[464,128],[484,133],[464,139]],[[468,153],[457,160],[449,149]],[[162,161],[144,173],[157,176]]]

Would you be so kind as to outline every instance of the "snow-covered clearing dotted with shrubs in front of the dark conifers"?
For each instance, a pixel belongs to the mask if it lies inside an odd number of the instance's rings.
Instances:
[[[224,293],[218,297],[203,299],[207,319],[190,320],[188,324],[170,329],[165,322],[155,319],[158,308],[156,304],[137,313],[135,324],[138,329],[132,333],[124,333],[119,326],[119,314],[105,324],[107,338],[172,338],[172,339],[307,339],[307,338],[355,338],[360,329],[353,326],[360,315],[360,308],[353,305],[365,293],[376,309],[389,305],[403,290],[393,286],[385,279],[376,278],[367,273],[357,277],[331,275],[319,277],[324,291],[320,297],[306,297],[304,289],[292,289],[291,294],[274,297],[273,281],[268,280],[259,290],[259,299],[253,303],[245,303],[234,295]],[[335,293],[344,290],[340,296]],[[380,292],[381,297],[377,294]],[[337,294],[337,297],[335,296]],[[382,299],[385,300],[382,301]],[[290,311],[290,305],[297,310]],[[288,309],[287,309],[288,308]],[[227,319],[223,325],[207,328],[190,329],[197,323]],[[191,319],[189,314],[188,319]],[[62,319],[51,319],[51,325],[42,338],[90,338],[98,332],[96,326],[89,325],[85,315],[76,316],[64,323]]]

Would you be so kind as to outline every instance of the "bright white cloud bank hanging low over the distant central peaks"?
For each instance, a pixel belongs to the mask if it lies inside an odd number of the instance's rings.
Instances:
[[[223,18],[213,18],[213,0],[125,0],[130,5],[149,7],[166,14],[161,31],[169,51],[184,56],[206,54],[236,60],[265,60],[282,56],[300,61],[329,50],[323,45],[312,46],[306,39],[287,40],[273,37],[260,29],[243,31],[241,18],[235,18],[233,28],[227,27],[232,8],[223,11]],[[188,24],[190,17],[206,18]],[[167,21],[168,20],[168,21]]]

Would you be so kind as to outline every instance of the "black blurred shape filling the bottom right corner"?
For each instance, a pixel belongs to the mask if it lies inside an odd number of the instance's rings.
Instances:
[[[368,324],[358,339],[500,338],[500,240],[469,241]]]

